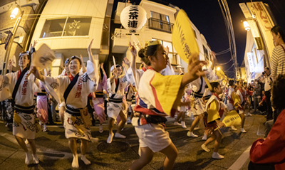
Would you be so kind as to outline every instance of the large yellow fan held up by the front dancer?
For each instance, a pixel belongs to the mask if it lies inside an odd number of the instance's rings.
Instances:
[[[172,29],[172,43],[180,58],[186,63],[188,63],[192,53],[199,55],[195,32],[190,19],[182,9],[178,12]]]

